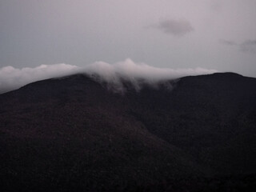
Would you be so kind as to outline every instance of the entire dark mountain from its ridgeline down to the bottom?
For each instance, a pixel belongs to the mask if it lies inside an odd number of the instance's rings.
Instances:
[[[0,190],[256,191],[255,78],[124,85],[76,74],[0,94]]]

